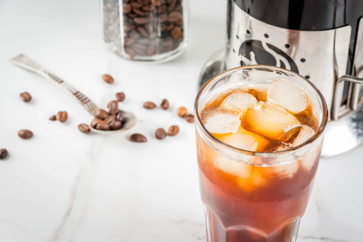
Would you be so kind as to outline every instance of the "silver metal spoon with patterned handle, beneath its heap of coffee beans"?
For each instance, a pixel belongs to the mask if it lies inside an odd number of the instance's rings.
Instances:
[[[23,67],[26,70],[33,71],[35,73],[42,75],[43,77],[45,77],[49,80],[54,81],[54,83],[58,84],[59,87],[62,87],[62,89],[64,91],[66,91],[66,93],[70,94],[73,98],[77,99],[77,101],[79,103],[81,103],[82,106],[84,108],[86,108],[86,110],[92,116],[94,116],[95,111],[98,109],[96,104],[94,104],[89,98],[87,98],[80,91],[77,91],[77,89],[75,89],[69,83],[63,81],[62,79],[58,78],[56,75],[45,70],[43,67],[41,67],[39,64],[37,64],[35,61],[30,59],[29,57],[26,57],[24,54],[20,54],[19,56],[12,58],[11,62],[17,66]],[[107,133],[122,132],[122,131],[125,131],[125,130],[128,130],[128,129],[134,127],[136,124],[136,116],[131,112],[127,112],[127,111],[124,111],[124,112],[125,112],[126,123],[123,124],[122,128],[120,128],[119,130],[103,131],[103,130],[96,130],[95,128],[92,128],[92,127],[90,127],[90,129],[94,132],[107,134]]]

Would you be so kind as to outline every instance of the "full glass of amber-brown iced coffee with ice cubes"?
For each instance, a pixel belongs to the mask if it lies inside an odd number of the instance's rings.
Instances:
[[[285,69],[243,66],[205,83],[194,112],[207,241],[296,241],[328,118],[319,90]]]

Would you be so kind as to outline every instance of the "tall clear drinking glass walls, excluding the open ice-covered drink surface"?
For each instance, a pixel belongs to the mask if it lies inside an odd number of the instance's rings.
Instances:
[[[309,97],[317,126],[302,144],[270,152],[246,151],[221,142],[203,125],[201,111],[224,93],[246,86],[256,92],[276,79],[295,83]],[[320,91],[289,70],[243,66],[205,83],[197,94],[194,112],[207,241],[295,242],[313,188],[328,119]]]

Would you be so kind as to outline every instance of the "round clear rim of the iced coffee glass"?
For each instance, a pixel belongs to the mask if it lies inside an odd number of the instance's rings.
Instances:
[[[207,86],[209,86],[211,83],[213,83],[214,81],[216,81],[217,79],[220,79],[221,77],[228,75],[236,70],[243,70],[243,69],[248,69],[248,68],[265,68],[265,69],[270,69],[270,70],[277,70],[277,71],[283,71],[283,72],[287,72],[289,74],[295,75],[298,78],[301,78],[303,81],[305,81],[309,86],[313,87],[314,91],[317,93],[320,101],[321,101],[321,105],[322,105],[322,119],[320,120],[320,125],[317,129],[317,131],[315,131],[314,135],[311,136],[309,139],[307,139],[305,142],[303,142],[302,144],[299,144],[295,147],[289,148],[289,149],[284,149],[282,151],[266,151],[266,152],[257,152],[257,151],[248,151],[245,149],[239,149],[236,147],[233,147],[229,144],[226,144],[224,142],[222,142],[221,140],[217,139],[216,137],[214,137],[204,126],[204,124],[201,122],[200,116],[199,116],[199,111],[198,111],[198,104],[200,101],[200,97],[201,94],[203,93],[203,91],[206,89]],[[194,102],[194,115],[196,117],[196,122],[200,128],[201,131],[203,131],[203,133],[205,135],[208,136],[209,139],[212,139],[213,142],[220,144],[222,146],[224,146],[225,148],[228,149],[233,149],[234,151],[237,151],[239,153],[244,153],[246,155],[253,155],[253,156],[273,156],[273,155],[282,155],[282,154],[286,154],[286,153],[290,153],[293,151],[297,151],[299,149],[302,149],[304,147],[306,147],[307,145],[311,144],[313,141],[315,141],[316,139],[318,139],[324,132],[327,121],[328,121],[328,106],[326,104],[325,98],[323,97],[322,93],[319,91],[319,89],[312,83],[310,82],[308,79],[306,79],[305,77],[303,77],[302,75],[299,75],[293,71],[290,70],[286,70],[284,68],[280,68],[280,67],[276,67],[276,66],[269,66],[269,65],[248,65],[248,66],[240,66],[240,67],[236,67],[233,69],[229,69],[226,71],[223,71],[217,75],[215,75],[214,77],[212,77],[211,79],[209,79],[206,83],[204,83],[204,85],[199,89],[197,96],[195,98],[195,102]]]

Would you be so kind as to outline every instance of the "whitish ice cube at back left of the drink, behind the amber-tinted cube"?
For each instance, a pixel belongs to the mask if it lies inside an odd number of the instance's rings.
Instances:
[[[252,108],[257,104],[257,99],[248,93],[232,93],[221,103],[222,107],[240,110],[241,114],[248,108]]]

